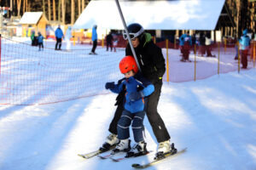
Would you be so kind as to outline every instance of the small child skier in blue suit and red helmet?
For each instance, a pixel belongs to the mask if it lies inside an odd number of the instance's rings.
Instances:
[[[143,118],[145,116],[144,105],[147,98],[144,98],[154,92],[154,85],[145,79],[141,72],[138,72],[137,64],[132,56],[126,56],[119,63],[121,73],[125,78],[119,84],[107,82],[105,88],[113,93],[119,94],[122,88],[126,88],[124,108],[122,116],[118,122],[119,144],[112,153],[119,151],[128,151],[126,157],[140,156],[148,153],[146,143],[143,139]],[[132,124],[131,124],[132,121]],[[134,140],[137,142],[132,148],[129,127],[132,127]]]

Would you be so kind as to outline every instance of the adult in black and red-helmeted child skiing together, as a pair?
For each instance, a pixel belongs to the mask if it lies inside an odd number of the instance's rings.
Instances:
[[[110,150],[115,146],[112,153],[126,151],[127,157],[147,154],[147,143],[143,135],[143,118],[146,115],[159,143],[156,156],[163,156],[172,151],[171,137],[157,111],[162,77],[166,71],[165,59],[161,48],[154,44],[151,35],[143,30],[143,26],[134,23],[127,28],[138,65],[128,43],[125,58],[119,62],[119,70],[125,77],[118,83],[107,82],[105,85],[106,89],[118,96],[115,104],[117,108],[108,128],[110,134],[100,150]],[[127,40],[127,33],[124,33],[123,37]],[[130,126],[136,142],[133,147]]]

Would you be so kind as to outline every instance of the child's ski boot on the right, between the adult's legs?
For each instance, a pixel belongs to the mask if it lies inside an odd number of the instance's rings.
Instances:
[[[125,157],[132,157],[132,156],[143,156],[148,154],[148,150],[146,148],[147,143],[144,141],[141,141],[137,144],[135,144],[130,151],[127,152],[127,155]]]

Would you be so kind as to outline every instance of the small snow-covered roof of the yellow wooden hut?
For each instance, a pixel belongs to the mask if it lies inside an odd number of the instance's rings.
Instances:
[[[20,24],[38,24],[43,12],[26,12],[20,19]]]

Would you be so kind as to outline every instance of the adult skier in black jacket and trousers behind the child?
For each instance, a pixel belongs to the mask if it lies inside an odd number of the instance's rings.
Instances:
[[[166,72],[166,61],[161,48],[154,44],[151,35],[143,30],[143,26],[133,23],[129,25],[127,29],[131,37],[132,46],[137,54],[138,64],[142,70],[143,77],[147,78],[154,85],[154,92],[148,96],[145,111],[148,116],[148,122],[153,129],[154,136],[156,137],[157,142],[159,142],[156,156],[163,156],[164,154],[172,151],[170,144],[171,137],[166,129],[165,123],[157,111],[157,105],[163,84],[162,77]],[[123,37],[127,40],[126,33],[123,34]],[[133,55],[131,53],[129,43],[125,48],[125,55]],[[125,88],[123,88],[116,98],[117,102],[115,105],[118,105],[118,107],[108,128],[110,134],[108,135],[105,143],[102,144],[100,150],[109,150],[113,145],[119,143],[119,139],[117,137],[117,126],[119,118],[124,111],[123,101],[125,99],[125,93]]]

